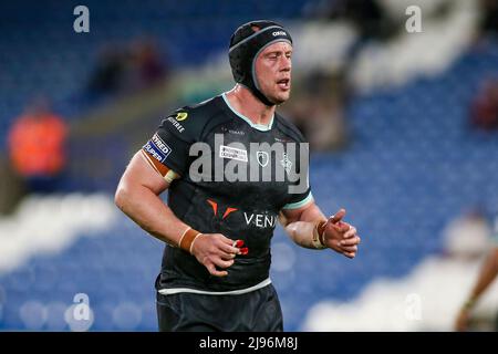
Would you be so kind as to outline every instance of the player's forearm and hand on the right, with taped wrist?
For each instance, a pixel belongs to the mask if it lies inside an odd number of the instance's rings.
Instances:
[[[280,222],[299,246],[310,249],[331,248],[347,258],[354,258],[361,239],[356,228],[343,221],[345,210],[326,218],[311,200],[297,209],[282,209]]]

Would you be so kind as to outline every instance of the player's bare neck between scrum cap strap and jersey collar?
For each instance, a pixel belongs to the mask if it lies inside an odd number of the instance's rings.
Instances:
[[[240,114],[245,115],[253,124],[269,125],[276,106],[267,106],[259,101],[248,88],[236,85],[227,92],[227,100],[230,105]]]

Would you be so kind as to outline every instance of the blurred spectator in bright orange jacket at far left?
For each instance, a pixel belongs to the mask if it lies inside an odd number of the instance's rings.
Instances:
[[[64,143],[68,128],[44,100],[38,100],[15,119],[9,137],[13,169],[24,179],[29,191],[50,192],[58,188],[65,167]]]

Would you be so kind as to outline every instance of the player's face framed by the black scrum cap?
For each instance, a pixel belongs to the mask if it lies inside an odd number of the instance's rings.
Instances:
[[[271,102],[289,100],[291,88],[292,45],[277,42],[268,45],[256,59],[256,77],[260,91]]]

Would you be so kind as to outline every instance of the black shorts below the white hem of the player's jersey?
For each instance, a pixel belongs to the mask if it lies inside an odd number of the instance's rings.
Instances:
[[[157,293],[160,332],[282,332],[282,310],[272,284],[240,295]]]

